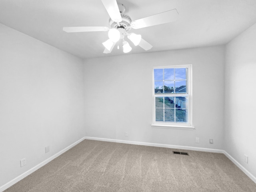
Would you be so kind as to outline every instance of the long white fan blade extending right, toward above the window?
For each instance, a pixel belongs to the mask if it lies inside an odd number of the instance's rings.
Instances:
[[[178,18],[178,11],[176,9],[166,12],[158,13],[142,19],[135,20],[131,23],[132,28],[139,29],[164,23],[176,21]]]

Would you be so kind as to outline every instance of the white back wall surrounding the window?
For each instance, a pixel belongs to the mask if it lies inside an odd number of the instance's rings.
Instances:
[[[86,136],[223,149],[224,46],[94,58],[84,64]],[[152,68],[184,64],[192,64],[196,130],[152,128]]]

